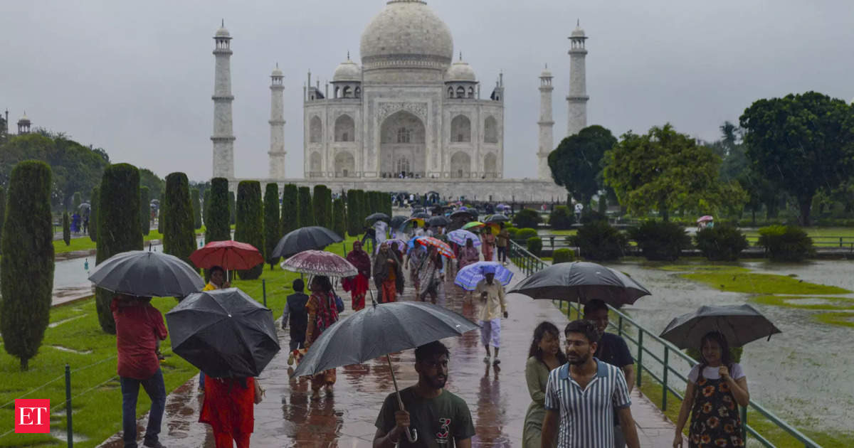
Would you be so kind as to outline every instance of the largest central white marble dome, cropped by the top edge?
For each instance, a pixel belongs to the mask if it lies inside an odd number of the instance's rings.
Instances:
[[[447,67],[453,58],[451,30],[421,0],[391,0],[362,32],[362,65]]]

